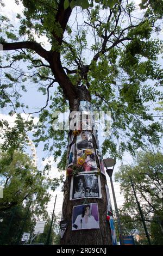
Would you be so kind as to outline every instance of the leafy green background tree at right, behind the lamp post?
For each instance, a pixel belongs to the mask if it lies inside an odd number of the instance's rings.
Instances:
[[[116,180],[121,182],[121,189],[125,199],[121,209],[122,215],[131,216],[132,221],[136,222],[138,231],[140,227],[139,235],[141,236],[143,226],[131,188],[129,179],[131,177],[149,228],[149,234],[152,235],[153,242],[158,242],[158,244],[162,241],[161,237],[158,239],[158,234],[163,236],[161,228],[163,202],[159,197],[159,186],[163,181],[162,166],[163,155],[160,152],[140,152],[134,164],[121,165],[119,172],[115,175]]]

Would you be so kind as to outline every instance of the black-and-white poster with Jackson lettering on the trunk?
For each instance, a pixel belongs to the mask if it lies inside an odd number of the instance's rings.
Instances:
[[[79,174],[71,179],[70,200],[102,198],[101,182],[96,174]]]

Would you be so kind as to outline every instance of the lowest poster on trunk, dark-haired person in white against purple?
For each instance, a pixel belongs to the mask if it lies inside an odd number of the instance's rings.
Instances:
[[[72,215],[72,230],[98,228],[98,204],[83,204],[74,206]]]

